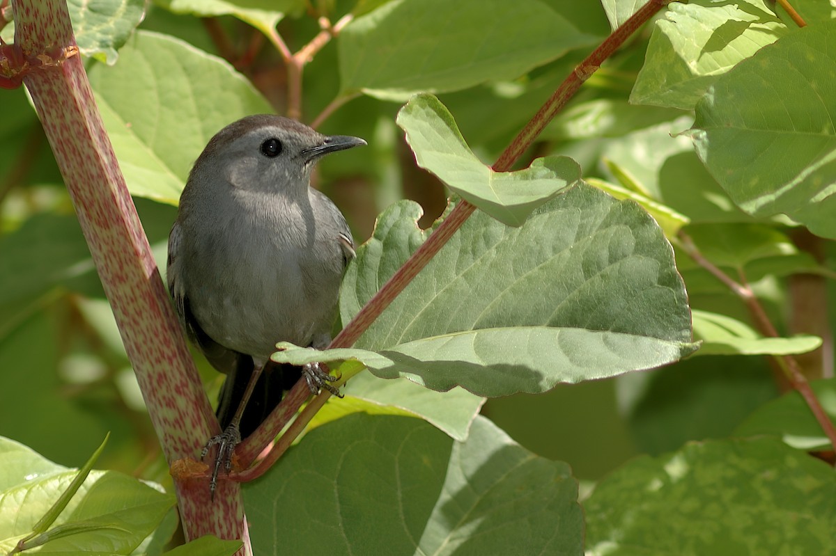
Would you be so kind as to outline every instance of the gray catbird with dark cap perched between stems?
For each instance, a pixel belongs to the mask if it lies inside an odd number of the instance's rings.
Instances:
[[[168,240],[167,278],[187,336],[227,374],[217,409],[224,433],[207,443],[220,444],[212,491],[235,444],[298,377],[332,388],[316,365],[262,369],[277,341],[329,343],[354,241],[310,176],[324,154],[361,144],[293,119],[248,116],[212,137],[191,169]]]

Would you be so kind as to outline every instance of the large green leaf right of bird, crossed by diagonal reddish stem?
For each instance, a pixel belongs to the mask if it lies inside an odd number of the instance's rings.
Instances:
[[[410,206],[381,215],[359,249],[344,281],[344,322],[420,245]],[[580,184],[518,229],[474,214],[359,339],[377,354],[274,357],[357,358],[380,377],[497,396],[675,361],[696,348],[690,324],[658,225],[635,203]]]

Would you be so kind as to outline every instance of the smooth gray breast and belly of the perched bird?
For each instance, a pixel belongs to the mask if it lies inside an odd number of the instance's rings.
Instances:
[[[218,343],[261,359],[277,341],[328,336],[344,265],[336,223],[307,200],[243,208],[194,223],[204,226],[190,242],[202,263],[186,280],[196,320]]]

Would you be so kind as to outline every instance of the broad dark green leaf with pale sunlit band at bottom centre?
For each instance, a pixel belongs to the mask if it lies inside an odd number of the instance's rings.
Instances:
[[[354,415],[308,433],[243,485],[252,543],[292,554],[582,553],[563,462],[484,417],[466,442],[408,417]]]

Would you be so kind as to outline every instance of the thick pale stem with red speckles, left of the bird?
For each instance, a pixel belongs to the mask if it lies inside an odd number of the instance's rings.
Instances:
[[[64,0],[14,4],[19,73],[32,94],[113,308],[168,462],[200,452],[217,432],[125,179],[77,53]],[[69,57],[68,57],[69,53]],[[21,69],[21,68],[18,68]],[[176,481],[187,538],[245,538],[237,485],[212,504],[203,481]]]

